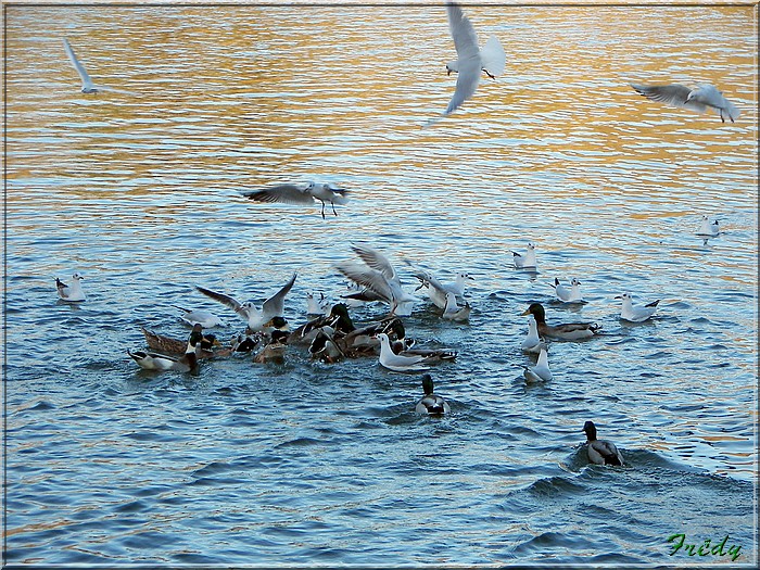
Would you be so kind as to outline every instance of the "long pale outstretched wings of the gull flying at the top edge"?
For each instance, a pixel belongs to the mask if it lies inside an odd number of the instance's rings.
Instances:
[[[481,60],[478,48],[478,35],[461,8],[455,3],[446,5],[448,28],[454,39],[459,67],[454,96],[448,102],[444,116],[456,111],[467,99],[472,97],[480,81]]]

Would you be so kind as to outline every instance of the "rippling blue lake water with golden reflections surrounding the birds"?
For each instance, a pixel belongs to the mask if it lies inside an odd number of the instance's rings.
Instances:
[[[7,7],[7,502],[11,563],[445,566],[757,561],[757,7],[468,7],[506,73],[460,110],[440,7]],[[71,41],[96,83],[83,94]],[[709,81],[735,124],[629,83]],[[244,190],[334,182],[328,208]],[[705,242],[701,216],[724,230]],[[536,244],[539,270],[512,266]],[[174,305],[242,321],[335,301],[352,243],[476,281],[468,324],[420,302],[452,406],[419,375],[290,346],[141,371]],[[58,302],[79,271],[88,299]],[[553,303],[555,277],[588,303]],[[641,325],[620,301],[660,299]],[[521,313],[593,320],[527,385]],[[353,311],[357,322],[382,306]],[[590,466],[585,420],[629,466]],[[673,553],[668,539],[738,554]],[[738,547],[738,552],[737,548]],[[672,554],[673,553],[673,554]],[[693,550],[696,553],[696,549]]]

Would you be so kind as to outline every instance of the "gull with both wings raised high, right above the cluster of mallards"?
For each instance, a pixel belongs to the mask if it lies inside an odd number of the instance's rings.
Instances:
[[[352,250],[367,267],[342,263],[335,268],[352,281],[369,289],[379,301],[391,305],[392,315],[409,316],[418,299],[404,291],[398,274],[389,258],[378,250],[366,245],[352,245]]]

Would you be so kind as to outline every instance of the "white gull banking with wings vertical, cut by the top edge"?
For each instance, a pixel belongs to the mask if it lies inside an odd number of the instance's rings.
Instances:
[[[457,53],[457,60],[448,63],[446,69],[449,74],[457,72],[456,88],[443,114],[429,121],[426,126],[452,114],[474,94],[480,81],[481,69],[485,71],[489,76],[495,77],[504,73],[506,65],[504,48],[498,39],[495,37],[489,39],[481,51],[478,47],[478,35],[461,8],[454,2],[448,2],[446,11],[448,13],[448,28]]]

